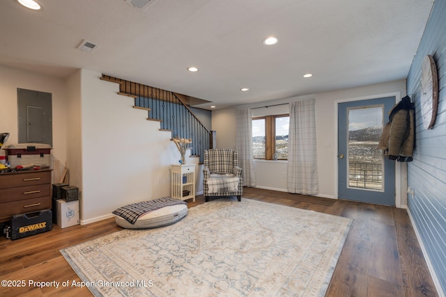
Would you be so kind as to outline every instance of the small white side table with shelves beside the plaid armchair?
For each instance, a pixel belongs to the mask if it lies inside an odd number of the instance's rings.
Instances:
[[[195,202],[195,164],[172,165],[171,198]]]

